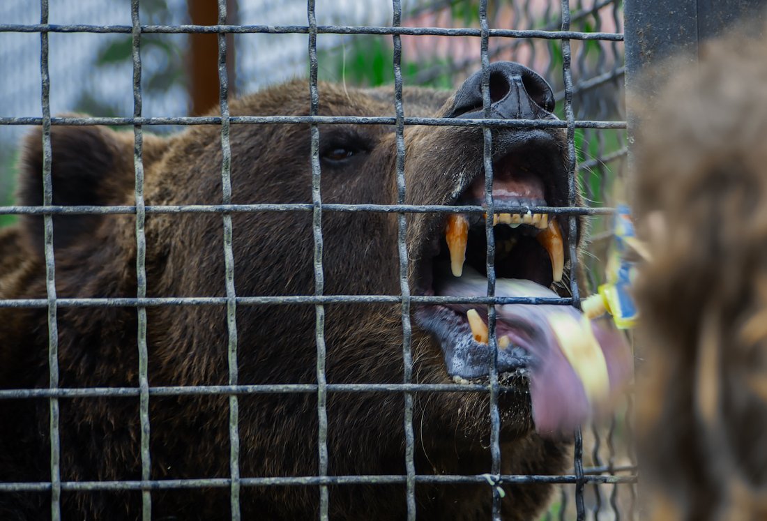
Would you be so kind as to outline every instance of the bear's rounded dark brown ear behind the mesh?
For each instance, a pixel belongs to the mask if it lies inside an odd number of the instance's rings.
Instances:
[[[61,206],[102,206],[122,203],[133,186],[132,138],[104,127],[51,127],[52,203]],[[18,180],[18,202],[43,204],[42,130],[25,140]],[[54,249],[89,236],[103,216],[54,216]],[[43,252],[43,217],[21,219],[32,249]]]

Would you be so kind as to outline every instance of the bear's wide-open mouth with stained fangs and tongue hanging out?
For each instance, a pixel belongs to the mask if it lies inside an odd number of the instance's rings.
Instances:
[[[562,206],[567,200],[564,165],[551,159],[558,157],[554,154],[548,154],[547,161],[531,160],[541,153],[508,153],[493,165],[494,204],[511,208],[492,219],[498,297],[557,298],[552,288],[564,287],[564,222],[553,214],[528,211],[533,206]],[[485,178],[478,175],[456,206],[481,206],[484,193]],[[419,292],[486,296],[486,216],[450,214],[430,239],[432,256],[417,271]],[[487,377],[495,353],[489,345],[486,305],[420,305],[416,323],[439,341],[451,377]],[[581,424],[630,373],[623,335],[589,321],[572,306],[495,305],[495,337],[495,363],[502,378],[523,374],[529,379],[539,431],[559,432]]]

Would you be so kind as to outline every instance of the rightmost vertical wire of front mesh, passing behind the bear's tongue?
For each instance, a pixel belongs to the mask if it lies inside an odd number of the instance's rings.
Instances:
[[[562,31],[570,30],[570,2],[561,0]],[[573,113],[573,77],[571,70],[571,50],[570,40],[562,38],[562,79],[565,84],[565,119],[567,120],[567,140],[568,140],[568,205],[576,206],[578,204],[578,183],[576,179],[577,171],[575,168],[575,117]],[[576,308],[581,307],[581,295],[578,292],[578,216],[568,217],[568,251],[570,256],[570,292],[573,298],[573,305]],[[578,521],[582,521],[585,516],[583,504],[584,492],[584,473],[583,473],[583,436],[581,429],[575,430],[574,447],[574,470],[575,470],[575,511]]]

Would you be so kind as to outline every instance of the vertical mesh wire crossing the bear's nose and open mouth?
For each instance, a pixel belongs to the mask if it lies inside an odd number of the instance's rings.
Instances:
[[[483,116],[490,116],[490,60],[489,25],[487,21],[487,0],[479,2],[479,26],[481,28],[482,58],[482,110]],[[485,236],[487,239],[487,295],[495,296],[495,235],[493,234],[493,219],[495,207],[492,200],[492,132],[489,127],[482,127],[483,159],[485,166]],[[488,348],[492,351],[490,364],[490,457],[492,458],[490,473],[498,483],[501,475],[501,415],[498,410],[498,342],[495,339],[495,305],[487,307]],[[492,486],[492,519],[501,519],[501,488],[499,484]]]

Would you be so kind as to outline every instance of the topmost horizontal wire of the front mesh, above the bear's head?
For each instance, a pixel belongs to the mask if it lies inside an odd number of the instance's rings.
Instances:
[[[87,25],[87,24],[0,24],[0,32],[92,32],[92,33],[130,33],[130,25]],[[144,34],[177,33],[223,33],[223,34],[308,34],[306,25],[142,25]],[[413,36],[473,36],[481,37],[478,28],[443,28],[443,27],[400,27],[358,25],[318,25],[319,34],[330,35],[413,35]],[[623,41],[624,35],[614,32],[581,31],[541,31],[536,29],[490,29],[494,38],[542,38],[544,40],[607,40]]]

